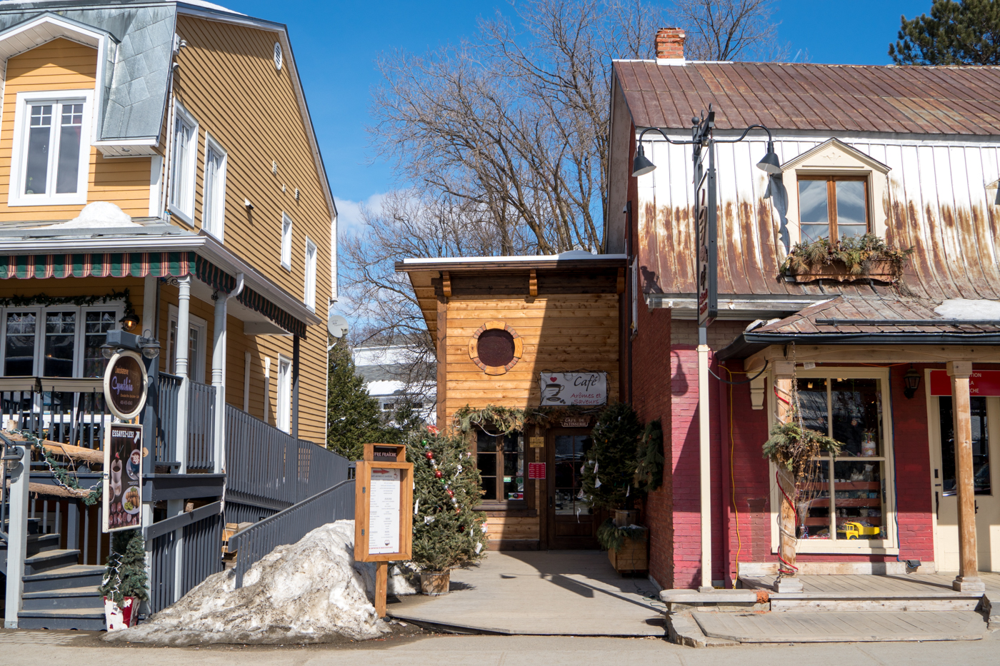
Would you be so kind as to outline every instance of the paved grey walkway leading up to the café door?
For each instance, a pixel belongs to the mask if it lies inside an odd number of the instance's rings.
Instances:
[[[664,605],[642,578],[622,578],[600,551],[491,552],[451,572],[450,594],[390,603],[401,620],[459,631],[663,636]]]

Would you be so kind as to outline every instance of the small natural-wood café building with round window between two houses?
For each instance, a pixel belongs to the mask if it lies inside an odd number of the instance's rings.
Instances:
[[[556,373],[603,377],[599,404],[621,396],[623,256],[405,259],[396,270],[409,275],[437,341],[438,427],[454,428],[466,406],[571,404],[569,387],[552,381]],[[479,509],[488,516],[490,548],[596,547],[599,517],[577,495],[599,404],[507,436],[474,428],[470,448],[483,478]],[[528,478],[530,463],[545,463],[544,478]]]

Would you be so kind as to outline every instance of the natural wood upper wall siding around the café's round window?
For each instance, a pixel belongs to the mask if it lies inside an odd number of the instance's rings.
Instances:
[[[524,341],[517,365],[487,375],[469,357],[480,326],[500,320]],[[524,409],[539,404],[539,373],[607,372],[608,400],[618,398],[618,296],[576,294],[524,297],[451,297],[447,312],[445,410],[447,422],[466,404]]]

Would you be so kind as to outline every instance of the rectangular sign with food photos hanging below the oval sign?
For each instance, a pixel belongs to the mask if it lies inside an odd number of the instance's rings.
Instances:
[[[112,423],[104,442],[104,532],[142,527],[142,426]]]

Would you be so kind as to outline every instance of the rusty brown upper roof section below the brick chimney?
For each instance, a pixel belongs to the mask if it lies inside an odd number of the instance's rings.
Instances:
[[[616,61],[636,127],[1000,134],[1000,67]]]

